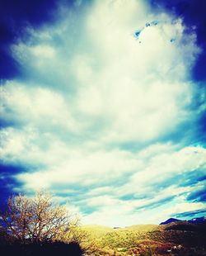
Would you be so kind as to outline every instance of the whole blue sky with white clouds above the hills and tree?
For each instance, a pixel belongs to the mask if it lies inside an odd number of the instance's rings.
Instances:
[[[206,213],[204,0],[0,3],[1,203],[82,224]]]

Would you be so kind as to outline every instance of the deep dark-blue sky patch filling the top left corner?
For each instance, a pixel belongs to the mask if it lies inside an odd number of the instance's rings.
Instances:
[[[62,1],[67,7],[74,1]],[[12,57],[11,45],[23,36],[26,26],[39,27],[54,21],[54,11],[59,1],[55,0],[7,0],[0,1],[0,79],[21,75],[21,67]]]

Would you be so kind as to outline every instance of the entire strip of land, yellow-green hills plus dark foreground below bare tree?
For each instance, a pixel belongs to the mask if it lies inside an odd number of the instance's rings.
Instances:
[[[14,255],[16,252],[26,256],[37,255],[35,252],[44,256],[57,254],[74,256],[80,254],[68,252],[73,246],[78,245],[83,251],[82,256],[206,256],[205,221],[191,223],[178,220],[164,225],[132,225],[124,228],[83,225],[74,229],[72,236],[62,237],[59,241],[50,241],[49,244],[32,244],[30,240],[26,244],[18,244],[17,241],[11,244],[12,240],[4,235],[3,232],[0,234],[0,252],[6,252],[2,254],[3,256]]]

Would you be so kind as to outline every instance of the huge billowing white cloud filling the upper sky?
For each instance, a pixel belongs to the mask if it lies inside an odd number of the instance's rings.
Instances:
[[[20,42],[13,47],[27,72],[40,76],[40,86],[52,83],[63,93],[43,102],[44,107],[49,103],[50,108],[62,97],[59,116],[70,118],[72,112],[72,122],[86,132],[101,118],[107,126],[106,130],[101,127],[104,143],[153,140],[187,119],[185,108],[191,103],[193,87],[187,73],[199,50],[195,35],[185,35],[180,20],[174,22],[166,14],[156,17],[143,1],[96,2],[77,33],[70,25],[77,17],[68,13],[53,27],[30,31],[35,45]],[[157,19],[157,26],[143,30],[138,44],[133,32]],[[176,41],[171,44],[174,36]],[[40,93],[38,88],[32,91]],[[31,101],[27,94],[26,100]],[[38,106],[37,110],[29,108],[28,115],[38,113]]]

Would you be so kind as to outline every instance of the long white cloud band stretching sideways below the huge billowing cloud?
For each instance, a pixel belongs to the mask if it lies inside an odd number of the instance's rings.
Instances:
[[[57,146],[54,142],[53,145]],[[145,159],[139,158],[142,152],[133,154],[113,150],[87,153],[87,149],[82,152],[79,149],[70,150],[69,147],[61,150],[59,145],[54,152],[57,153],[56,157],[47,159],[45,156],[43,162],[50,166],[49,170],[18,175],[21,182],[26,183],[26,187],[37,189],[42,186],[52,187],[54,184],[60,186],[75,183],[101,185],[110,181],[115,183],[119,178],[124,180],[125,175],[128,175],[125,184],[116,189],[117,194],[120,196],[128,193],[143,194],[152,191],[153,186],[164,183],[166,179],[175,178],[178,174],[190,173],[203,166],[206,154],[203,148],[188,147],[179,151],[161,152],[150,156],[148,160],[147,156]],[[51,149],[47,154],[54,155],[54,152]],[[40,152],[40,154],[44,153]],[[36,156],[37,161],[40,154]],[[30,158],[32,156],[35,159],[34,152]],[[38,183],[39,180],[42,183]]]

